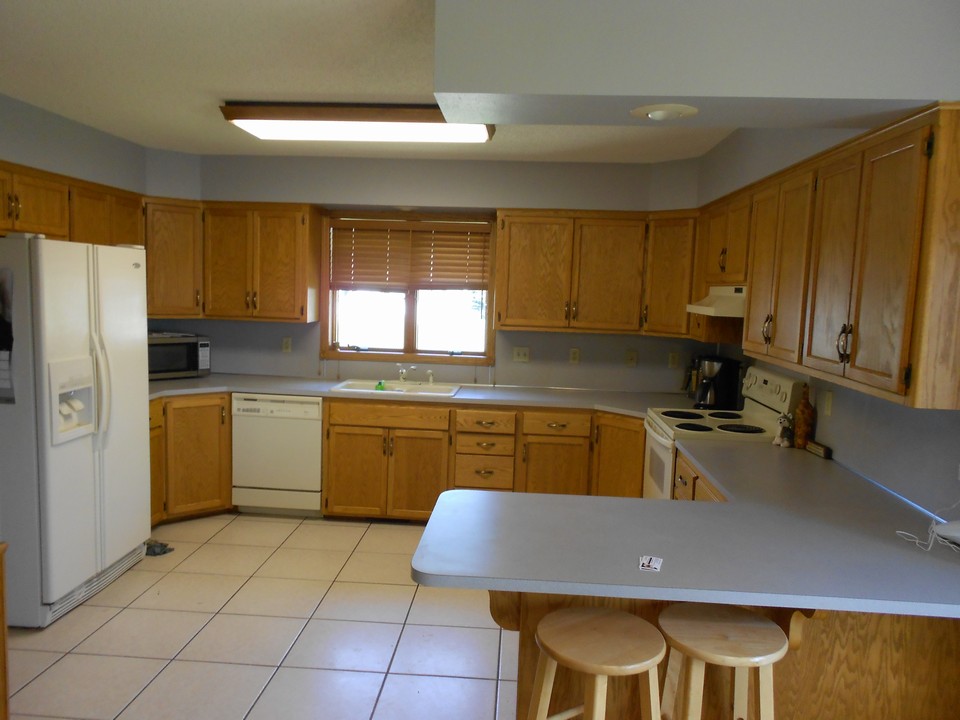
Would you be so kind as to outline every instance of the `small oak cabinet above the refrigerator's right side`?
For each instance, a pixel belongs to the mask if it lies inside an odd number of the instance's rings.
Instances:
[[[94,245],[143,245],[139,195],[70,186],[70,240]]]

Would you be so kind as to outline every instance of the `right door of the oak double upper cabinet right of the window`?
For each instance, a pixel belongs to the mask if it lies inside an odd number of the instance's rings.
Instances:
[[[639,330],[644,223],[576,221],[570,327]]]

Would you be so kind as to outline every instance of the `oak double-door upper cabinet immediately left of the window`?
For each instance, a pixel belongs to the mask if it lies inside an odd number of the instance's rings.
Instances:
[[[308,206],[206,203],[204,316],[318,320],[322,223]]]

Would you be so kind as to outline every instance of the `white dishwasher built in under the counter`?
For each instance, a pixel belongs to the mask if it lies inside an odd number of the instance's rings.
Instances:
[[[233,504],[320,514],[321,399],[233,394]]]

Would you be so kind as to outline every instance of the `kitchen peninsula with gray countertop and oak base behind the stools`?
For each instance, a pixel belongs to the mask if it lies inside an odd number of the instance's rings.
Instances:
[[[837,463],[755,442],[678,442],[725,503],[525,495],[441,495],[412,561],[424,585],[491,590],[520,631],[518,709],[536,666],[536,625],[559,607],[604,605],[651,622],[677,601],[757,607],[784,628],[778,717],[914,720],[960,704],[960,554],[924,552],[929,518]],[[642,555],[663,559],[641,570]],[[708,669],[705,717],[727,687]],[[556,711],[579,702],[558,673]],[[611,678],[608,717],[639,717]],[[566,704],[566,705],[565,705]]]

